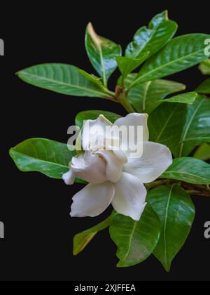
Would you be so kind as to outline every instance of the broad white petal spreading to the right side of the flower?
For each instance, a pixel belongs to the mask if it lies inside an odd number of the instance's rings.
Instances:
[[[165,145],[147,142],[143,144],[143,155],[137,159],[128,159],[123,171],[141,181],[151,183],[172,165],[172,152]]]

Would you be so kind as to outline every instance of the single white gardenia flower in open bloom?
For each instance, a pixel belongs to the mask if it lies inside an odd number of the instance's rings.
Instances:
[[[70,171],[63,176],[67,185],[72,185],[76,177],[90,183],[74,195],[72,217],[98,216],[112,204],[119,214],[130,216],[135,221],[140,220],[146,207],[147,191],[144,183],[155,181],[172,164],[172,153],[168,147],[148,141],[147,119],[147,114],[134,113],[111,124],[101,115],[85,123],[82,132],[85,152],[73,157]],[[87,129],[87,123],[90,129]],[[96,141],[92,129],[100,127],[103,131],[106,126],[143,126],[143,155],[130,157],[130,150],[123,150],[126,144],[123,136],[119,138],[120,150],[111,146],[107,149],[104,138],[98,133]]]

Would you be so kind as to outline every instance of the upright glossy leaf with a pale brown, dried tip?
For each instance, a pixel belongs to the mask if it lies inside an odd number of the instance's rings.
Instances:
[[[102,77],[104,86],[106,86],[109,77],[118,66],[116,56],[122,54],[121,46],[113,41],[99,37],[94,32],[92,24],[89,23],[86,29],[85,47],[90,62],[99,76]]]

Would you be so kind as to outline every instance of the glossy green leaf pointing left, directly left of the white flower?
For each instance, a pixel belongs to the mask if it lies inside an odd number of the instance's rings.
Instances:
[[[10,149],[10,157],[20,171],[37,171],[57,179],[69,171],[74,155],[66,144],[44,138],[31,138]]]

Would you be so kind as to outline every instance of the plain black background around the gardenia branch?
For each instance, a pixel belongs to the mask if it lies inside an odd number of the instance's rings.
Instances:
[[[67,3],[69,2],[69,5]],[[26,2],[25,2],[26,3]],[[31,137],[66,142],[67,128],[83,110],[110,110],[125,114],[108,100],[74,98],[29,86],[15,72],[38,63],[69,63],[94,72],[84,48],[87,22],[123,48],[141,25],[166,8],[179,24],[178,34],[209,33],[208,1],[45,1],[1,6],[0,38],[5,56],[1,74],[1,197],[0,280],[209,280],[210,240],[204,223],[210,220],[210,199],[194,197],[197,217],[185,246],[165,273],[153,256],[133,268],[116,268],[116,247],[109,233],[100,233],[85,251],[72,255],[73,235],[102,221],[70,218],[71,197],[80,190],[38,173],[21,173],[8,149]],[[113,6],[113,4],[115,4]],[[183,4],[187,4],[186,8]],[[3,4],[2,4],[3,5]],[[113,75],[113,88],[118,74]],[[192,91],[204,79],[197,67],[172,77]]]

